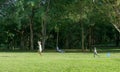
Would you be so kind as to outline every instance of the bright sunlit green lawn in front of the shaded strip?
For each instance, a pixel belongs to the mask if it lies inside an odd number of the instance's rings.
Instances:
[[[0,72],[120,72],[120,53],[0,52]]]

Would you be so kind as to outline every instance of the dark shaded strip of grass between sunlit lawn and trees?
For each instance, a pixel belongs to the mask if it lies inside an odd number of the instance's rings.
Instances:
[[[82,51],[81,49],[63,49],[65,53],[93,53],[93,50],[85,50]],[[120,48],[97,48],[97,51],[99,53],[106,53],[106,52],[112,52],[112,53],[120,53]],[[0,52],[38,52],[38,50],[0,50]],[[55,49],[45,49],[43,53],[59,53]]]

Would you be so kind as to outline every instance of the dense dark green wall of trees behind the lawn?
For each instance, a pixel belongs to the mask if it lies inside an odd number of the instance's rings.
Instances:
[[[120,46],[119,0],[1,0],[0,49]]]

